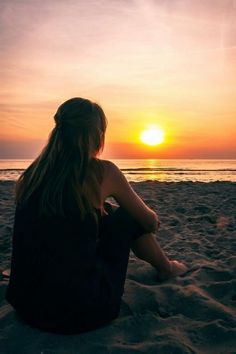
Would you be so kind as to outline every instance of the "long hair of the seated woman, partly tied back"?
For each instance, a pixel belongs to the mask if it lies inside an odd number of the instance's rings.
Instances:
[[[39,213],[82,217],[101,205],[102,167],[96,155],[103,149],[107,120],[102,108],[87,99],[72,98],[57,110],[48,143],[24,171],[16,188],[21,206],[35,193]]]

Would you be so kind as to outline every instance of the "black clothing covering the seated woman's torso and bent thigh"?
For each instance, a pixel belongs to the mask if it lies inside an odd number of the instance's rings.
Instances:
[[[6,299],[29,324],[79,333],[119,315],[131,241],[145,230],[106,203],[97,220],[79,213],[38,217],[37,203],[16,208]]]

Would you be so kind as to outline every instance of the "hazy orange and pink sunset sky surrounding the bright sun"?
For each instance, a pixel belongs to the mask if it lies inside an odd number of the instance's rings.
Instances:
[[[235,18],[236,0],[0,0],[0,158],[36,157],[71,97],[103,107],[105,158],[236,158]]]

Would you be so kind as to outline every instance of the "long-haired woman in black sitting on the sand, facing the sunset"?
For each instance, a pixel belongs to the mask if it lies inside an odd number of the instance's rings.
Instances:
[[[130,248],[161,280],[186,267],[161,250],[157,215],[119,168],[98,159],[102,108],[73,98],[54,118],[48,144],[17,183],[6,298],[29,324],[73,333],[119,315]],[[110,196],[118,208],[105,203]]]

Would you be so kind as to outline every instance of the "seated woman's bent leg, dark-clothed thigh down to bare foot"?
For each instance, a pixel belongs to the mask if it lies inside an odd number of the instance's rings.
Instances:
[[[109,210],[108,210],[109,209]],[[112,210],[108,205],[109,216],[103,225],[100,240],[102,258],[108,262],[113,283],[123,290],[126,277],[129,249],[134,254],[150,263],[158,271],[160,280],[185,273],[187,268],[178,261],[169,261],[161,249],[156,237],[145,230],[122,208]],[[122,293],[117,291],[117,294]]]

